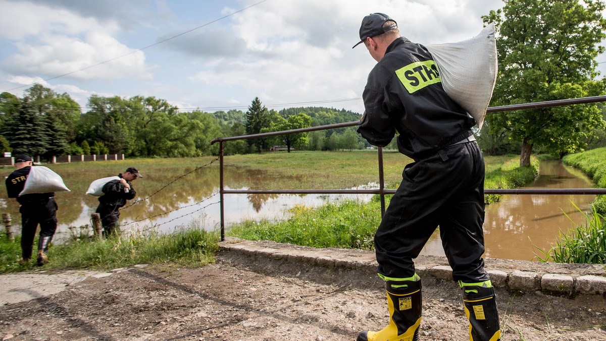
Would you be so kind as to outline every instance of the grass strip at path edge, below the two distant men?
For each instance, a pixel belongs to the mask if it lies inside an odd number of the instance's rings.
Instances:
[[[0,273],[35,268],[109,270],[142,263],[201,267],[214,261],[214,254],[218,251],[218,240],[218,233],[210,233],[196,226],[182,228],[170,235],[148,233],[102,240],[88,237],[75,238],[60,245],[52,244],[48,249],[50,263],[44,267],[36,267],[35,259],[26,266],[19,265],[21,246],[19,237],[16,237],[15,243],[6,240],[0,242]]]

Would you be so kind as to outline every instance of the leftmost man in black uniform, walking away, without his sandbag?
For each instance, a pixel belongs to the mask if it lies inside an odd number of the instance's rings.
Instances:
[[[32,169],[32,157],[21,154],[15,157],[13,173],[6,178],[6,190],[8,197],[16,198],[21,204],[21,260],[19,264],[25,265],[32,258],[32,247],[36,229],[40,224],[40,237],[38,239],[38,266],[48,263],[48,245],[57,230],[57,204],[55,192],[22,194],[30,170]]]

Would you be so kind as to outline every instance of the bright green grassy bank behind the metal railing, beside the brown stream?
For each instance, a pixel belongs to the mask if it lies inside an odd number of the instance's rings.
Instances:
[[[501,157],[487,164],[486,188],[514,188],[534,180],[538,160],[530,167],[514,167],[518,157]],[[500,162],[500,163],[499,163]],[[494,186],[494,187],[490,187]],[[386,205],[390,196],[386,198]],[[492,201],[500,196],[487,196]],[[368,203],[348,200],[320,208],[295,207],[288,220],[245,220],[231,226],[229,236],[248,240],[274,240],[310,247],[373,249],[373,236],[381,221],[381,204],[375,196]]]

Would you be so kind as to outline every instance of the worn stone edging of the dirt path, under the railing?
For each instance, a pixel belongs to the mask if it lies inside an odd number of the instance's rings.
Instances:
[[[227,238],[219,243],[221,251],[248,256],[267,257],[290,263],[317,267],[344,268],[376,273],[373,251],[339,248],[310,248],[268,240],[251,241]],[[419,256],[416,272],[421,277],[452,280],[445,257]],[[510,291],[536,292],[557,296],[590,294],[606,296],[606,267],[591,264],[539,263],[525,260],[487,259],[485,269],[497,288]]]

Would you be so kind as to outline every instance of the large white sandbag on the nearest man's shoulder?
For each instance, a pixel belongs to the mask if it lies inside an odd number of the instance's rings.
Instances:
[[[494,23],[474,38],[447,44],[427,44],[438,65],[442,87],[482,128],[497,76]]]

